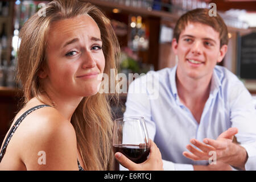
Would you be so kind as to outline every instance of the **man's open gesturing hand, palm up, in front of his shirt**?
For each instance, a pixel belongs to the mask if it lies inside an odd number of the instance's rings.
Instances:
[[[192,154],[185,151],[183,155],[192,160],[209,160],[209,152],[215,151],[217,162],[245,169],[247,152],[245,148],[232,142],[234,135],[237,133],[238,129],[232,127],[220,134],[216,140],[205,138],[203,140],[204,143],[201,143],[199,140],[191,139],[191,143],[201,151],[188,144],[187,148]]]

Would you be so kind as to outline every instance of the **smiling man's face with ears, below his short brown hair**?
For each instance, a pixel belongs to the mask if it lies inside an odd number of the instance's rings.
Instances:
[[[180,34],[179,42],[174,39],[172,48],[179,61],[177,72],[181,76],[200,79],[212,76],[213,68],[225,56],[227,46],[220,48],[219,33],[202,23],[188,23]]]

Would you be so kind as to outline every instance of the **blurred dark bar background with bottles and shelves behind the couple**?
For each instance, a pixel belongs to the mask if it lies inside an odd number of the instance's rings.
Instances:
[[[85,1],[85,0],[84,0]],[[22,92],[15,82],[19,31],[24,22],[49,1],[0,1],[0,143],[20,109]],[[174,67],[172,32],[177,19],[198,7],[215,3],[217,13],[228,26],[228,53],[220,65],[228,68],[256,96],[256,1],[249,0],[88,0],[111,20],[121,45],[121,71],[147,73]],[[235,89],[235,88],[234,88]],[[115,117],[125,111],[112,105]]]

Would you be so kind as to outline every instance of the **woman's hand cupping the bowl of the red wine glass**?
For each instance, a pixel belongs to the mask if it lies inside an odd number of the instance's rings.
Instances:
[[[123,167],[129,169],[130,171],[163,170],[162,155],[159,151],[159,148],[152,140],[150,140],[150,156],[145,162],[141,164],[136,164],[132,162],[130,159],[126,158],[126,156],[121,154],[121,152],[115,153],[115,159],[117,159]]]

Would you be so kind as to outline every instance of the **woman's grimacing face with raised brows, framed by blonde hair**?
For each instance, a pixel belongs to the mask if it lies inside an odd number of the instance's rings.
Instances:
[[[47,37],[45,84],[66,96],[92,96],[104,72],[100,29],[89,15],[57,20]]]

